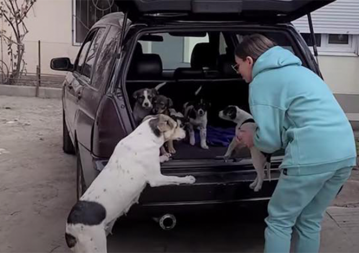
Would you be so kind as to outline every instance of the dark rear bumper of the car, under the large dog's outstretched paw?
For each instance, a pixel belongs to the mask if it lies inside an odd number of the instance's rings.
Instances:
[[[107,161],[97,161],[97,169],[101,170]],[[204,165],[205,163],[201,163]],[[192,185],[170,185],[150,187],[142,192],[138,204],[134,205],[129,215],[161,216],[164,213],[191,213],[209,211],[224,206],[252,205],[267,203],[275,189],[280,171],[279,163],[272,162],[271,180],[265,179],[262,189],[254,192],[249,185],[254,181],[256,173],[250,161],[241,161],[212,166],[184,166],[178,164],[162,168],[168,176],[192,175],[196,182]],[[174,167],[175,166],[175,167]]]

